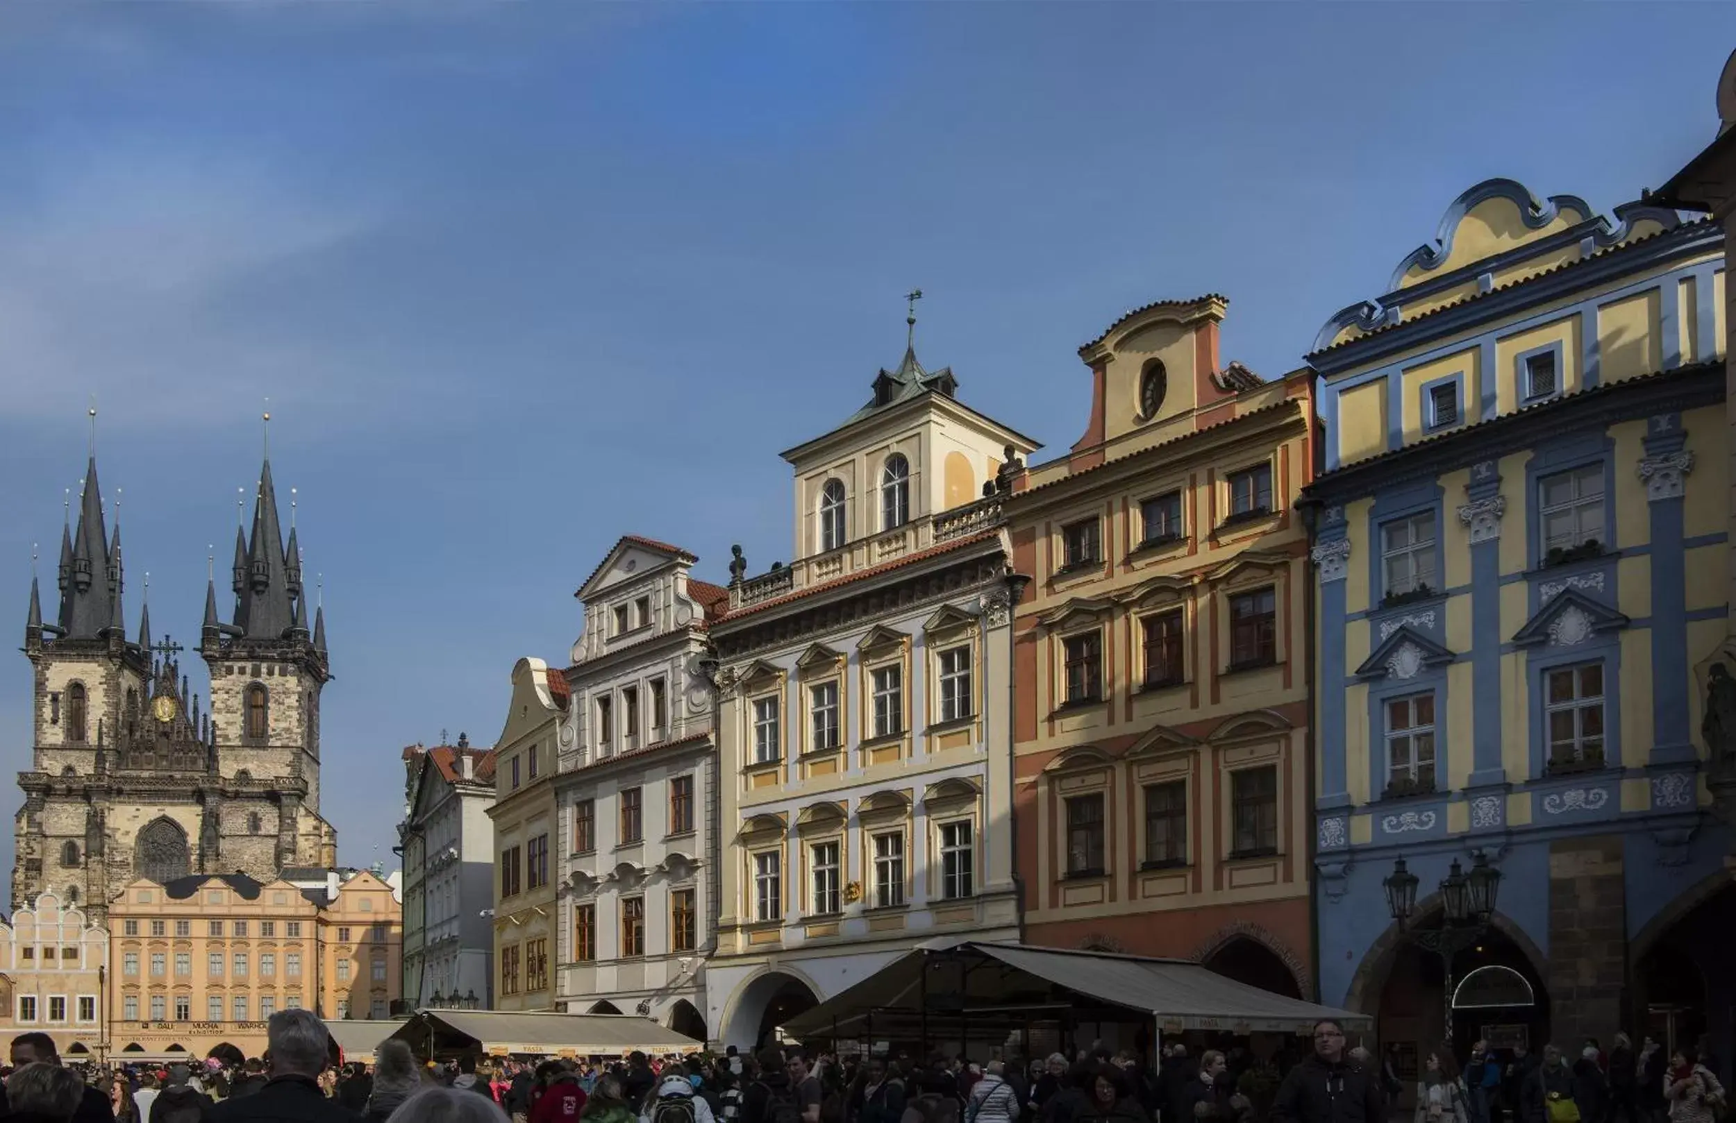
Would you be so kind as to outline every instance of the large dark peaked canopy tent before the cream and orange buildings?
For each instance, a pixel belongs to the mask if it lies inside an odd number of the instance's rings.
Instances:
[[[1135,1022],[1161,1033],[1307,1033],[1323,1017],[1349,1031],[1366,1014],[1262,991],[1191,960],[1024,944],[929,944],[797,1015],[795,1038],[996,1040],[1033,1022]]]

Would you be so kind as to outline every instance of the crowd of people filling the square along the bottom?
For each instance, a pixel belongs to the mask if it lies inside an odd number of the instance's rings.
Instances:
[[[1616,1034],[1606,1054],[1477,1041],[1463,1071],[1450,1050],[1413,1087],[1396,1048],[1347,1048],[1335,1021],[1312,1052],[1260,1067],[1246,1050],[1170,1045],[1153,1069],[1108,1048],[972,1064],[962,1055],[838,1057],[769,1047],[618,1061],[418,1062],[384,1041],[372,1064],[330,1064],[325,1024],[273,1015],[264,1059],[212,1057],[78,1069],[54,1038],[12,1041],[0,1118],[23,1123],[1724,1123],[1724,1087],[1694,1050],[1665,1055]],[[1293,1061],[1293,1062],[1292,1062]],[[1276,1078],[1283,1073],[1281,1080]],[[1255,1080],[1250,1081],[1248,1074]],[[1266,1085],[1259,1076],[1266,1073]],[[1413,1093],[1413,1095],[1408,1095]],[[1399,1104],[1406,1104],[1399,1109]],[[1415,1107],[1410,1107],[1415,1104]]]

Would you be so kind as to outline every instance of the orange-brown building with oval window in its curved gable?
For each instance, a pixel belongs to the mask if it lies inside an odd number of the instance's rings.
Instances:
[[[1224,307],[1082,347],[1087,432],[1014,483],[1024,939],[1311,996],[1311,384],[1220,366]]]

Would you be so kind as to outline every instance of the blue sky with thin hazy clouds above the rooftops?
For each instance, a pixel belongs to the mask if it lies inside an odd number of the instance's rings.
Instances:
[[[0,606],[97,394],[130,611],[149,569],[191,639],[269,396],[325,812],[391,863],[399,748],[491,743],[618,535],[788,557],[778,451],[898,361],[908,288],[924,361],[1066,448],[1127,307],[1227,293],[1226,359],[1290,370],[1472,182],[1660,184],[1731,43],[1710,3],[5,5]]]

